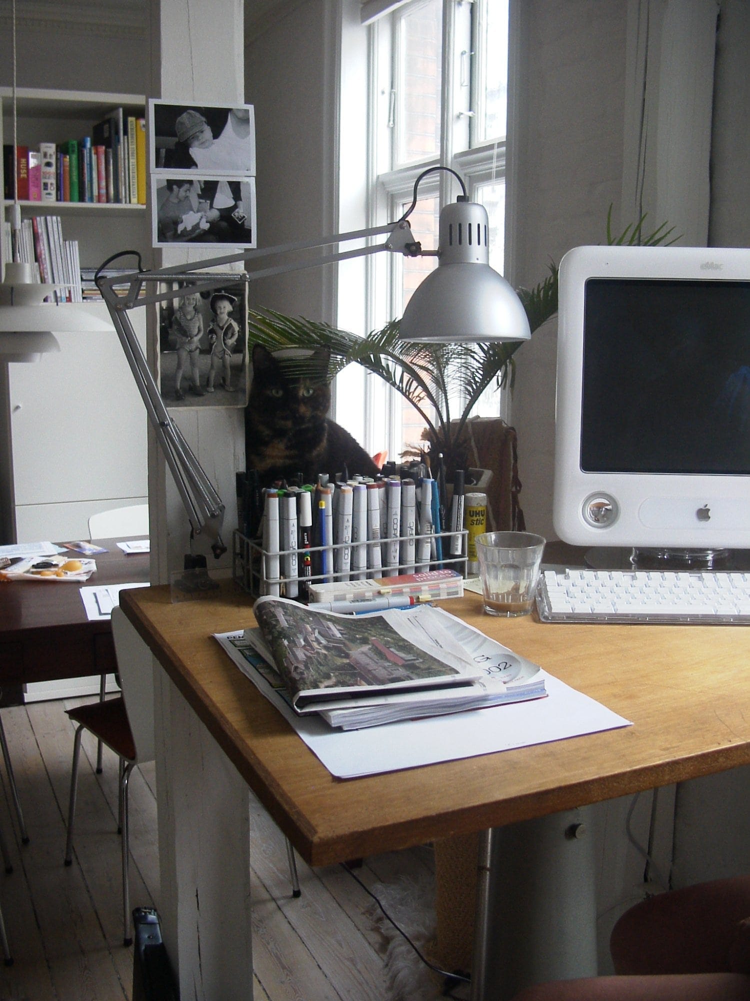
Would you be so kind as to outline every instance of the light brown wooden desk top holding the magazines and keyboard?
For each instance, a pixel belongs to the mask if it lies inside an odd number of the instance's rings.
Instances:
[[[362,779],[334,779],[212,638],[251,625],[248,596],[173,605],[130,591],[126,615],[302,856],[326,865],[544,816],[750,763],[742,627],[542,625],[445,607],[633,721],[621,730]]]

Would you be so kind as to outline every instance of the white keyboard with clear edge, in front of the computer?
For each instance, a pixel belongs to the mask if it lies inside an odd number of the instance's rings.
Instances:
[[[750,625],[750,574],[547,570],[536,596],[547,623]]]

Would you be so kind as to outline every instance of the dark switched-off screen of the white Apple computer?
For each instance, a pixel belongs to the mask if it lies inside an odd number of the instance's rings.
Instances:
[[[750,281],[590,278],[581,468],[750,474]]]

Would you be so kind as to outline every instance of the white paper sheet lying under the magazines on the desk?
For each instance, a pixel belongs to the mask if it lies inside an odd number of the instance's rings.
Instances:
[[[268,694],[313,754],[339,779],[396,772],[632,726],[629,720],[544,672],[546,699],[388,723],[367,730],[333,730],[320,719],[298,716],[260,676],[249,674],[248,666],[231,645],[222,643],[221,636],[216,638],[233,663]]]

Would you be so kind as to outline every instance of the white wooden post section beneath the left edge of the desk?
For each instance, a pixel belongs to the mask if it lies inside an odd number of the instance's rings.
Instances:
[[[252,1001],[247,785],[158,666],[162,935],[191,1001]]]

